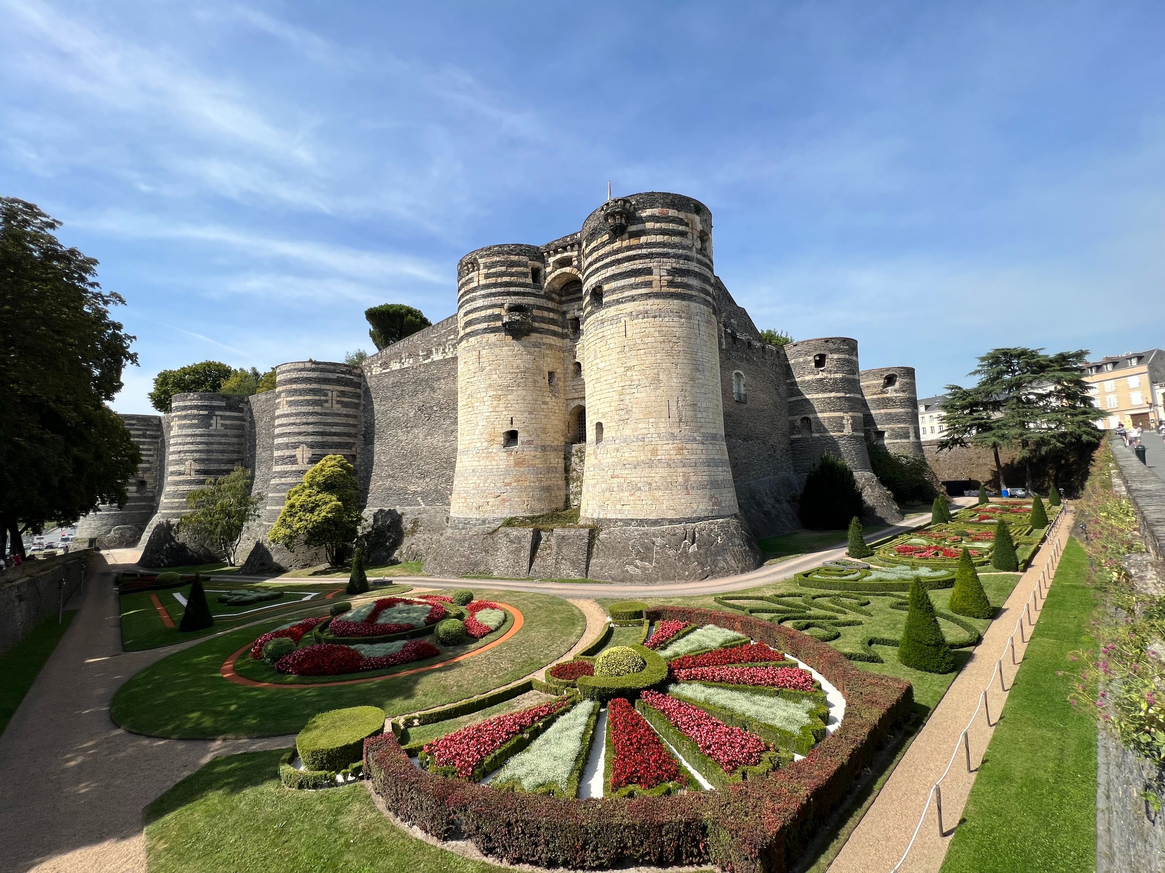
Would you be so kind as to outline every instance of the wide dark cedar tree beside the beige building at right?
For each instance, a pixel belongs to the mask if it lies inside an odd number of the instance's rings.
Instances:
[[[1044,354],[1043,349],[997,348],[979,359],[974,388],[947,385],[942,404],[946,436],[939,450],[990,448],[1000,488],[1007,488],[1000,449],[1011,448],[1033,490],[1032,464],[1054,474],[1082,475],[1101,432],[1083,381],[1087,350]]]

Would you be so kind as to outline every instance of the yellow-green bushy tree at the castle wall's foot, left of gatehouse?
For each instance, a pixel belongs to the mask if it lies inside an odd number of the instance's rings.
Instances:
[[[267,539],[285,548],[323,547],[327,562],[360,532],[360,485],[355,468],[343,455],[324,455],[288,491],[287,503]]]

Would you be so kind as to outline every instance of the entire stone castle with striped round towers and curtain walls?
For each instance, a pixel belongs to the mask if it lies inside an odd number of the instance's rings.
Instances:
[[[142,466],[121,510],[78,537],[190,560],[185,495],[243,464],[266,510],[245,569],[302,567],[266,532],[324,455],[360,477],[369,560],[433,575],[697,580],[757,567],[796,530],[826,452],[867,519],[898,521],[867,441],[923,454],[909,367],[860,370],[857,342],[761,340],[713,270],[712,214],[690,197],[610,199],[545,246],[487,246],[457,267],[457,314],[361,367],[299,361],[252,397],[186,393],[123,416]],[[550,530],[522,519],[577,508]],[[509,519],[507,521],[507,519]],[[503,524],[504,523],[504,524]],[[205,556],[205,555],[204,555]]]

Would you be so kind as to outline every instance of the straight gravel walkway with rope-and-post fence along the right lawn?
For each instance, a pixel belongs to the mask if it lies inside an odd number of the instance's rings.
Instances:
[[[951,683],[951,688],[934,708],[926,725],[885,781],[877,800],[870,804],[861,823],[829,866],[829,873],[889,873],[898,863],[918,824],[931,786],[946,769],[952,752],[959,746],[967,722],[979,705],[980,693],[988,683],[991,689],[988,693],[991,719],[997,719],[1003,711],[1008,695],[1000,690],[998,675],[993,679],[996,660],[1004,653],[1008,637],[1015,630],[1016,622],[1025,616],[1024,604],[1032,596],[1040,573],[1048,565],[1051,542],[1055,541],[1062,547],[1071,530],[1069,513],[1062,518],[1050,541],[1040,549],[1032,568],[1019,579],[1002,612],[983,634],[983,641],[975,647],[970,661]],[[1042,603],[1038,601],[1038,594],[1036,597],[1037,602]],[[1033,610],[1031,616],[1038,620],[1039,613]],[[1030,638],[1026,618],[1024,618],[1024,634]],[[1022,661],[1028,646],[1019,636],[1016,634],[1015,645],[1017,660]],[[1008,689],[1018,669],[1012,666],[1008,650],[1003,658]],[[974,767],[979,767],[994,732],[995,729],[987,723],[980,710],[968,734]],[[954,825],[962,816],[970,787],[975,782],[975,773],[967,773],[963,755],[965,752],[960,747],[949,773],[942,780],[942,824],[947,829],[946,835],[939,836],[938,812],[932,801],[926,809],[926,818],[915,845],[901,867],[902,873],[935,873],[942,866],[942,859],[946,858],[947,847],[954,836]]]

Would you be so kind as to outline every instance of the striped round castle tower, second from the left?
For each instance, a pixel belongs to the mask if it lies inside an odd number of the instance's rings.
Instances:
[[[186,494],[225,476],[246,457],[246,397],[175,395],[170,406],[170,438],[165,452],[165,488],[150,523],[178,519],[186,512]],[[149,531],[147,531],[148,533]],[[143,535],[142,542],[144,544]]]

